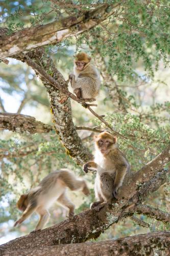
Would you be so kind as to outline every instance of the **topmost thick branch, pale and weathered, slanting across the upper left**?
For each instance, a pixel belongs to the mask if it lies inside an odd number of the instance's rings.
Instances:
[[[114,13],[114,8],[119,5],[104,4],[94,10],[83,12],[79,17],[69,16],[46,25],[22,29],[10,36],[4,36],[0,40],[0,59],[26,53],[40,46],[56,44],[64,38],[78,35],[103,22]]]

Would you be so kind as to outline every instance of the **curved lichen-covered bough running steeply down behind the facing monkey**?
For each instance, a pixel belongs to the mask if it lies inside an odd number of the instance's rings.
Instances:
[[[28,58],[25,55],[16,57],[17,59],[28,63],[28,65],[30,65],[29,60],[31,58],[33,63],[38,63],[40,68],[42,68],[47,74],[50,74],[50,76],[55,80],[55,83],[58,84],[58,88],[62,87],[62,91],[68,91],[67,82],[64,80],[62,74],[56,69],[53,60],[45,54],[43,48],[30,52]],[[70,98],[55,88],[52,85],[52,82],[44,78],[42,73],[39,72],[39,69],[36,69],[37,65],[32,65],[31,67],[35,70],[37,76],[40,77],[48,92],[54,126],[59,139],[66,148],[66,153],[78,164],[83,164],[84,162],[89,161],[93,156],[83,145],[80,137],[78,136],[76,126],[72,121]]]

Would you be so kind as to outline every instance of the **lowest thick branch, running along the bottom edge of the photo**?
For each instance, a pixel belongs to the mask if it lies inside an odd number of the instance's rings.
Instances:
[[[1,252],[1,250],[0,250]],[[26,250],[5,250],[2,256],[56,256],[56,255],[74,255],[74,256],[99,256],[99,255],[160,255],[165,256],[170,253],[170,232],[151,232],[148,234],[138,234],[132,237],[109,240],[102,242],[83,244],[67,244],[54,246],[38,246]]]

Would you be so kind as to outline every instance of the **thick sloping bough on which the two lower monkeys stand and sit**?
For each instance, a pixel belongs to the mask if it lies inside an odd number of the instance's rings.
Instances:
[[[167,149],[166,149],[167,150]],[[166,161],[169,160],[170,150],[164,151],[164,157]],[[166,152],[166,155],[165,155]],[[160,157],[160,156],[159,156]],[[148,165],[159,165],[159,157],[152,160],[152,163],[145,165],[141,170],[141,176],[143,176],[143,170],[148,169]],[[135,207],[144,201],[150,193],[157,190],[166,180],[167,172],[163,170],[163,165],[167,162],[163,162],[159,166],[160,169],[155,169],[153,176],[147,176],[145,182],[138,186],[138,183],[133,183],[131,176],[127,179],[127,182],[132,182],[133,190],[126,190],[126,196],[124,199],[113,202],[112,205],[107,205],[100,212],[94,210],[86,210],[81,214],[74,216],[71,220],[65,220],[57,225],[43,229],[37,233],[29,234],[28,236],[15,239],[2,245],[1,248],[7,250],[16,249],[29,249],[36,246],[51,246],[57,244],[66,243],[80,243],[85,242],[91,238],[98,237],[101,232],[106,230],[113,223],[117,223],[125,217],[132,216],[135,212]],[[123,185],[123,190],[125,185]],[[127,193],[128,191],[128,193]],[[119,195],[120,197],[121,195]]]

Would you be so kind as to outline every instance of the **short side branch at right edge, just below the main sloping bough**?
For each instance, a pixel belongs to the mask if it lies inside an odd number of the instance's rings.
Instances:
[[[170,223],[170,214],[158,208],[154,208],[149,205],[138,204],[135,207],[135,211],[137,212],[137,214],[143,214],[158,221]]]

